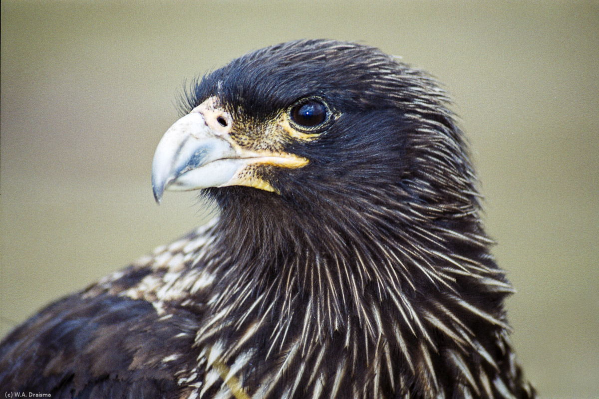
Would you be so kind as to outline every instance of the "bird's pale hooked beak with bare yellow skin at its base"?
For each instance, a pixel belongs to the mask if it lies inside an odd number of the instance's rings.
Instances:
[[[274,123],[276,126],[262,135],[235,129],[231,114],[218,105],[216,98],[208,98],[177,120],[156,147],[152,162],[156,201],[160,202],[167,189],[245,185],[276,191],[258,176],[259,167],[297,168],[307,165],[308,160],[280,150],[280,142],[289,138],[274,137],[273,132],[291,136],[291,127],[283,120]]]

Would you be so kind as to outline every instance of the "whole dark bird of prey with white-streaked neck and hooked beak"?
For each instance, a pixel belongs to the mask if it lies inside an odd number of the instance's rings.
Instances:
[[[470,150],[437,80],[301,39],[184,85],[152,162],[204,226],[50,304],[0,389],[52,398],[533,398]]]

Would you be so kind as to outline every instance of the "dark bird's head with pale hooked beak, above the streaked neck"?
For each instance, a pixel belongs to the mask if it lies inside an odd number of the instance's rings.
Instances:
[[[445,103],[434,80],[373,47],[305,40],[253,51],[187,90],[184,116],[156,149],[155,198],[202,189],[222,207],[320,214],[385,197],[463,213],[476,203],[464,194],[474,179]]]

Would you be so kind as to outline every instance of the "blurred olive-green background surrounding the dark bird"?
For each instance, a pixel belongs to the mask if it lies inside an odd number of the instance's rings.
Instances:
[[[183,81],[265,45],[360,41],[437,76],[486,196],[527,376],[599,397],[597,2],[2,1],[0,336],[201,224],[150,164]]]

